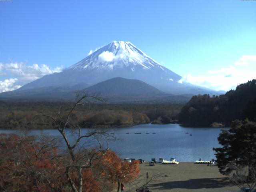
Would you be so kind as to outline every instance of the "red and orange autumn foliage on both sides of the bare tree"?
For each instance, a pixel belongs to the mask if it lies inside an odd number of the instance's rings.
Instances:
[[[0,134],[0,191],[70,191],[65,175],[70,159],[56,146],[56,141],[50,138]],[[139,173],[138,162],[122,162],[114,152],[108,151],[93,162],[92,168],[82,170],[83,192],[102,191],[103,185],[125,183]],[[75,172],[71,175],[77,182]]]

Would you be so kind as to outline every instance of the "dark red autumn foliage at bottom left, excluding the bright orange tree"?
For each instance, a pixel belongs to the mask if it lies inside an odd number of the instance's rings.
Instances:
[[[54,142],[33,136],[0,134],[0,191],[70,191],[64,162]],[[92,170],[83,170],[84,192],[98,192]],[[73,174],[74,180],[76,175]]]

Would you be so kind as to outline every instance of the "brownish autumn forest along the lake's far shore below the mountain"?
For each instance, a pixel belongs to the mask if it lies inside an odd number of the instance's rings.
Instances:
[[[72,103],[0,101],[0,128],[52,128],[44,115],[67,113]],[[124,127],[156,122],[170,123],[177,118],[179,104],[87,104],[72,114],[82,127]],[[157,121],[156,121],[157,120]]]

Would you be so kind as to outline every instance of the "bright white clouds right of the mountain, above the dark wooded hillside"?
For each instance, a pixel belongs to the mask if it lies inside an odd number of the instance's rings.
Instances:
[[[246,65],[237,65],[237,62],[249,60],[250,62],[247,62]],[[220,68],[218,70],[210,70],[206,75],[202,76],[188,74],[178,82],[189,82],[198,86],[212,88],[214,90],[228,91],[236,88],[238,84],[245,83],[256,78],[256,70],[252,70],[254,66],[256,66],[256,56],[242,56],[234,63],[234,65]]]

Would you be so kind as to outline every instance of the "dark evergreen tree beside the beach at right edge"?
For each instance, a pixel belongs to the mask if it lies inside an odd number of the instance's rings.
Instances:
[[[248,166],[250,175],[256,167],[256,122],[236,120],[229,130],[222,130],[218,141],[222,147],[213,150],[220,173],[228,175],[238,166]]]

